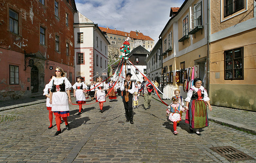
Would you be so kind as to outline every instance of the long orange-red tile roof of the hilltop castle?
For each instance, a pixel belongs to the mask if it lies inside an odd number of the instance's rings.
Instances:
[[[131,39],[140,39],[140,40],[151,40],[151,41],[154,41],[151,37],[145,36],[141,32],[140,33],[138,32],[138,36],[137,36],[135,31],[130,31],[130,33],[128,33],[128,32],[118,31],[118,30],[114,30],[114,29],[110,29],[110,28],[108,28],[108,29],[104,28],[104,27],[99,27],[99,28],[101,29],[102,32],[106,32],[106,33],[113,34],[113,35],[130,37]]]

